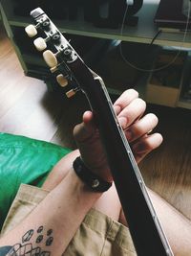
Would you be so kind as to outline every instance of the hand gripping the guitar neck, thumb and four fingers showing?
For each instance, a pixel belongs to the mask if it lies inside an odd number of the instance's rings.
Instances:
[[[138,92],[134,89],[126,90],[114,104],[118,121],[137,162],[150,151],[158,148],[162,142],[159,133],[150,134],[157,126],[158,118],[152,113],[143,116],[145,108],[145,102],[138,98]],[[86,111],[83,115],[83,122],[75,126],[74,139],[85,165],[96,175],[112,181],[113,178],[91,111]]]

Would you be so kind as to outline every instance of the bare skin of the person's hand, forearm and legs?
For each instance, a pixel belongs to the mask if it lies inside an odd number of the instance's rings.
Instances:
[[[158,118],[154,114],[143,116],[145,106],[135,90],[127,90],[115,103],[118,120],[131,142],[138,162],[147,153],[157,149],[162,142],[159,133],[150,133],[156,127]],[[73,161],[80,154],[92,172],[105,180],[113,180],[91,112],[85,112],[82,124],[74,128],[74,138],[78,151],[62,158],[44,183],[44,188],[51,190],[50,194],[22,223],[0,239],[1,247],[22,244],[22,237],[26,232],[44,226],[48,230],[53,229],[53,243],[49,246],[42,244],[40,249],[48,251],[49,255],[59,256],[65,251],[76,229],[92,207],[127,224],[114,185],[104,194],[94,193],[74,174]],[[95,154],[99,157],[95,157]],[[175,255],[189,255],[190,222],[158,195],[152,191],[149,194]],[[114,208],[116,211],[110,210]],[[63,237],[64,240],[60,240]],[[36,240],[32,238],[31,244],[35,247]],[[6,255],[1,254],[1,248],[0,255]]]

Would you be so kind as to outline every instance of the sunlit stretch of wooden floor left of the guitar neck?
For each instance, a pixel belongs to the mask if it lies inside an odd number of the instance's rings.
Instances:
[[[65,100],[58,92],[48,92],[44,81],[26,77],[2,29],[0,80],[1,131],[74,148],[72,130],[84,111],[83,97]]]

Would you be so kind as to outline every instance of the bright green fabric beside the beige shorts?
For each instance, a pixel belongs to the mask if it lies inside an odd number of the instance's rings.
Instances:
[[[0,133],[0,230],[21,183],[42,186],[55,163],[71,150]]]

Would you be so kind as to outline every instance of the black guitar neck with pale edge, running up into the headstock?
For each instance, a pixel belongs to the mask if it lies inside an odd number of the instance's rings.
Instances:
[[[77,89],[85,93],[94,111],[138,256],[173,256],[103,81],[75,53],[73,47],[41,9],[38,8],[31,14],[37,27],[41,28],[47,37],[59,35],[59,38],[53,41],[59,66],[62,63],[67,66],[70,75],[78,84]],[[48,21],[45,28],[40,25],[43,21]]]

